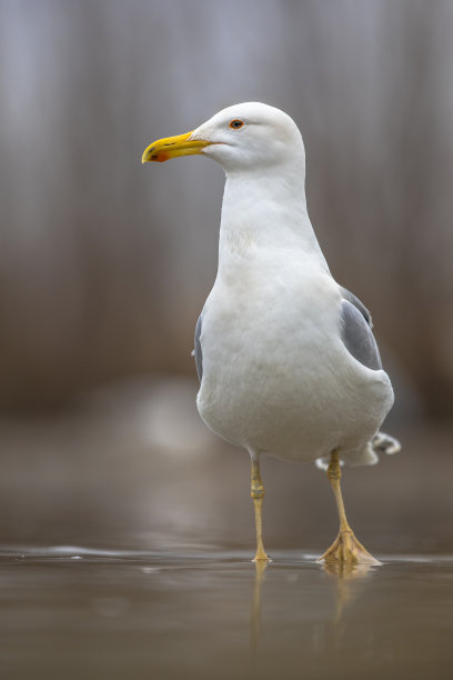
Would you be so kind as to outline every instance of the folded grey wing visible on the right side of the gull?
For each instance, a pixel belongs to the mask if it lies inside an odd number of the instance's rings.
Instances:
[[[349,299],[343,299],[341,303],[341,339],[354,359],[366,366],[366,368],[376,371],[382,369],[382,363],[378,344],[371,330],[370,312],[368,312],[366,308],[355,296],[353,298],[359,302],[360,307]],[[363,313],[362,308],[368,313],[369,319]]]

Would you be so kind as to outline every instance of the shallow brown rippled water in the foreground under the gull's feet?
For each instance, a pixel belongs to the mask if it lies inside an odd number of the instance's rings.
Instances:
[[[0,550],[1,678],[451,678],[453,557]]]

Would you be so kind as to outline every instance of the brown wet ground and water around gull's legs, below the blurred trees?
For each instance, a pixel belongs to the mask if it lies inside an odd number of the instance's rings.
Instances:
[[[389,422],[402,452],[344,470],[369,570],[315,563],[338,530],[325,474],[263,460],[256,573],[248,456],[195,392],[0,421],[0,680],[450,679],[451,426]]]

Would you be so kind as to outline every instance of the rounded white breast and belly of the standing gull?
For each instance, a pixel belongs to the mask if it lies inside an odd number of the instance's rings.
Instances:
[[[230,262],[218,276],[203,311],[204,422],[235,444],[289,460],[364,446],[391,406],[391,387],[384,371],[344,348],[330,273],[274,249],[234,271]]]

